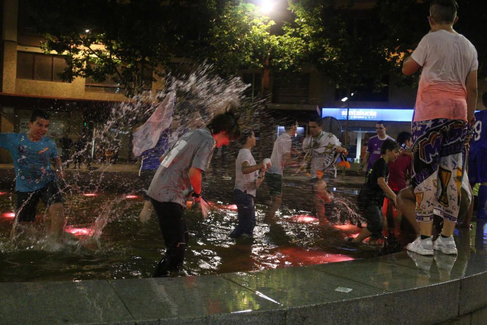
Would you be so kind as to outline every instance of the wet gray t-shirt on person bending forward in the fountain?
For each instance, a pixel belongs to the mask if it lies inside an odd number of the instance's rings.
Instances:
[[[186,207],[191,189],[189,169],[195,167],[205,172],[215,145],[208,129],[183,135],[159,165],[147,195],[159,202],[174,202]]]

